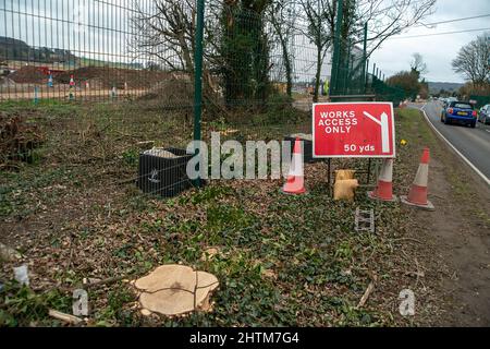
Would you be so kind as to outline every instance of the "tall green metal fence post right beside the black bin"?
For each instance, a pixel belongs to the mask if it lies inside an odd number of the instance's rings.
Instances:
[[[196,47],[194,50],[194,141],[201,141],[201,116],[203,116],[203,40],[204,40],[204,12],[205,0],[196,0]],[[196,154],[198,155],[198,153]],[[199,170],[199,169],[198,169]],[[200,177],[194,183],[201,185]]]

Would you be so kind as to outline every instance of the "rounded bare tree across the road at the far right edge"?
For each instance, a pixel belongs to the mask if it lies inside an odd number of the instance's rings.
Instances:
[[[490,40],[487,36],[479,36],[464,46],[453,60],[453,70],[476,87],[490,84]]]

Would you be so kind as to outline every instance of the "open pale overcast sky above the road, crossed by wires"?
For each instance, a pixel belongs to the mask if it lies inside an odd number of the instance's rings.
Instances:
[[[428,16],[424,23],[490,14],[490,0],[438,0],[436,7],[436,12]],[[464,82],[463,77],[453,72],[451,61],[455,58],[461,47],[485,32],[406,39],[402,37],[489,27],[490,16],[439,24],[436,28],[414,27],[393,37],[391,40],[387,40],[378,51],[372,53],[371,61],[377,62],[382,72],[389,76],[402,70],[409,70],[411,56],[414,52],[419,52],[422,55],[429,69],[429,73],[426,74],[428,81],[462,83]]]

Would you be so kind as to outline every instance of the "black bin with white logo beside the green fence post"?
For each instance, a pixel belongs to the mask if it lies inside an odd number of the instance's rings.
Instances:
[[[193,158],[184,149],[161,148],[139,155],[138,188],[149,194],[172,197],[193,186],[187,164]]]

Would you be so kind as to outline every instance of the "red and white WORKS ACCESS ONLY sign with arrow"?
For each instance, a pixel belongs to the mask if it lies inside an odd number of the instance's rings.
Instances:
[[[316,158],[395,157],[393,104],[315,104],[313,112]]]

